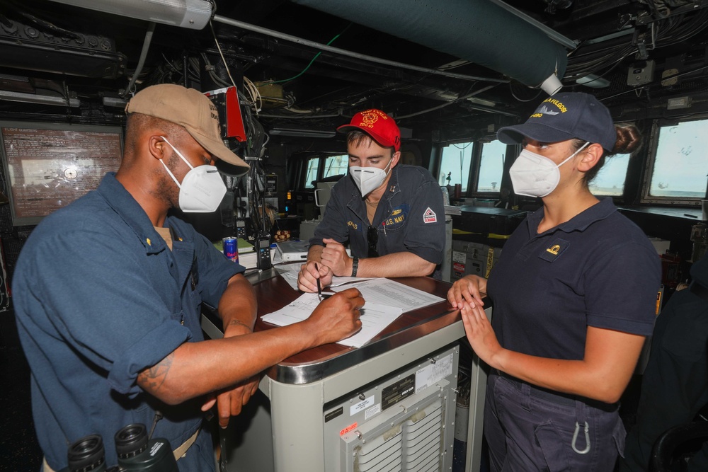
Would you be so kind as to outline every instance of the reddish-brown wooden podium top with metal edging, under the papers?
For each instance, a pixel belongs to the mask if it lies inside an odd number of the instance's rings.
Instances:
[[[261,317],[281,309],[301,295],[301,292],[292,289],[279,275],[265,277],[268,275],[263,274],[259,277],[261,279],[259,282],[251,280],[258,299],[256,331],[277,328],[263,322]],[[461,320],[459,311],[453,310],[447,302],[449,282],[431,277],[401,277],[392,280],[437,295],[445,301],[402,313],[362,347],[349,347],[335,343],[314,347],[271,367],[267,372],[268,376],[285,384],[308,384]],[[221,326],[220,320],[218,318],[214,320],[214,317],[213,314],[210,316],[212,322],[216,321],[219,323],[218,326]]]

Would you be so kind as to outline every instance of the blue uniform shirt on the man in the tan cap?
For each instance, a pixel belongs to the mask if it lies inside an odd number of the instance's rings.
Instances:
[[[168,217],[173,250],[142,207],[105,175],[98,189],[59,209],[32,232],[18,258],[13,297],[32,371],[35,430],[48,464],[67,465],[67,446],[101,434],[106,464],[113,436],[130,423],[174,449],[202,422],[201,399],[169,407],[142,391],[137,375],[185,341],[202,340],[200,304],[217,306],[243,267],[185,222]],[[212,471],[202,432],[181,471]]]

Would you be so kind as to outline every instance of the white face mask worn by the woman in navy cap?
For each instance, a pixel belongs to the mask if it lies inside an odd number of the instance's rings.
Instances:
[[[524,149],[509,169],[514,193],[516,195],[526,195],[527,197],[545,197],[550,192],[553,192],[561,180],[561,171],[558,168],[573,159],[588,144],[590,142],[583,144],[580,149],[573,152],[568,159],[557,166],[554,161],[546,156]]]

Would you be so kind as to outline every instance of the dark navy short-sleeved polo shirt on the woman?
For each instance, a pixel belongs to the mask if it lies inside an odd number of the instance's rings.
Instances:
[[[588,326],[651,335],[661,264],[639,226],[607,198],[537,234],[529,214],[489,275],[493,327],[507,349],[583,359]]]

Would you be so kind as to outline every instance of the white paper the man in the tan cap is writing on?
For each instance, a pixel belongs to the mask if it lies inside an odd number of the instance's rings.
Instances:
[[[263,315],[262,319],[266,323],[276,326],[287,326],[309,318],[318,304],[319,297],[317,297],[317,294],[302,294],[280,310]],[[362,328],[358,333],[339,341],[338,344],[362,347],[362,345],[372,340],[375,335],[381,333],[392,321],[401,316],[403,311],[398,307],[377,305],[367,301],[360,313]]]

